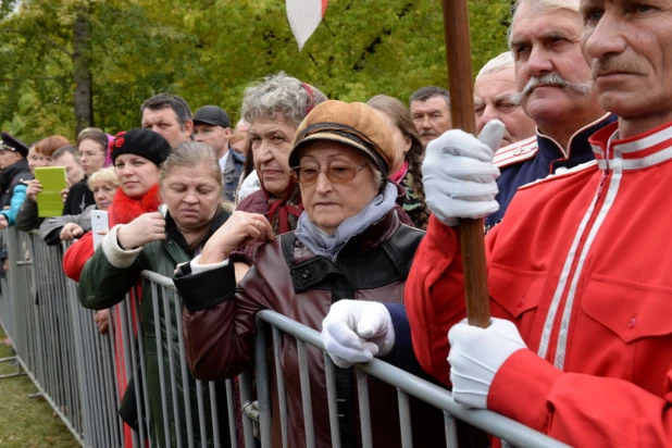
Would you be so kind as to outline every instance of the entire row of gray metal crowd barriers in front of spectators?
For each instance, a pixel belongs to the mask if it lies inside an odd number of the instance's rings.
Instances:
[[[61,269],[63,249],[48,247],[37,235],[8,229],[2,232],[8,244],[10,271],[1,282],[0,324],[11,338],[20,370],[27,374],[43,398],[85,447],[271,447],[271,379],[274,369],[283,447],[287,444],[287,395],[278,365],[267,365],[266,344],[272,341],[274,360],[279,359],[282,334],[297,340],[300,366],[301,401],[306,428],[306,447],[314,447],[313,421],[307,345],[322,350],[320,334],[273,311],[257,316],[254,400],[252,372],[221,384],[194,381],[188,374],[183,336],[179,331],[182,303],[170,278],[144,272],[145,287],[151,288],[153,332],[160,335],[155,347],[146,346],[144,319],[137,300],[127,297],[114,307],[111,331],[98,333],[94,312],[82,308],[76,284]],[[157,319],[159,316],[159,319]],[[270,328],[269,328],[270,327]],[[269,335],[269,329],[271,334]],[[270,337],[267,337],[270,336]],[[175,346],[177,349],[173,349]],[[159,360],[167,351],[167,368],[158,363],[159,387],[150,396],[146,354],[150,350]],[[301,356],[303,353],[303,356]],[[0,360],[3,361],[3,360]],[[277,363],[277,361],[275,361]],[[332,444],[340,447],[334,363],[324,353],[325,384]],[[139,373],[139,375],[138,375]],[[412,447],[409,396],[423,400],[444,412],[446,445],[457,447],[455,419],[463,420],[514,446],[564,447],[540,433],[489,411],[466,410],[452,400],[446,389],[435,386],[383,361],[374,360],[356,366],[361,446],[374,446],[371,434],[366,376],[378,378],[397,388],[399,434],[405,448]],[[9,375],[11,376],[11,375]],[[159,399],[161,422],[146,424],[140,419],[138,432],[130,432],[117,415],[125,382],[136,376],[133,387],[138,415],[152,415],[152,401]],[[123,384],[120,384],[123,383]],[[239,386],[240,399],[235,399]],[[158,390],[158,391],[157,391]],[[157,397],[157,395],[159,397]],[[219,396],[219,397],[217,397]],[[225,397],[225,398],[224,398]],[[217,402],[217,398],[221,400]],[[155,408],[154,406],[154,408]],[[227,419],[225,419],[227,416]],[[375,415],[373,415],[375,418]],[[242,433],[236,431],[236,422]],[[259,427],[254,426],[259,424]],[[152,432],[150,428],[154,428]],[[162,428],[162,431],[155,431]],[[256,437],[259,433],[259,438]]]

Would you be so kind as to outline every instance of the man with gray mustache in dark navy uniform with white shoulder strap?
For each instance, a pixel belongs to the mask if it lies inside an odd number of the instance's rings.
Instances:
[[[536,123],[537,135],[495,154],[501,171],[500,207],[485,219],[486,231],[502,220],[519,187],[592,161],[588,137],[615,120],[600,108],[593,90],[581,33],[576,0],[517,3],[509,30],[519,90],[513,99]]]

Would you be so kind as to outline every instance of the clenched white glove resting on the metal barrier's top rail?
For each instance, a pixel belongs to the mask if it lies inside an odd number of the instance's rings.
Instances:
[[[324,349],[339,368],[384,357],[395,346],[395,327],[383,303],[339,300],[322,321]]]

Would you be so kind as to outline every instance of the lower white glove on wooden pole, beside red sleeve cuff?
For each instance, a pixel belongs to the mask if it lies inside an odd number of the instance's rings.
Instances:
[[[501,364],[527,348],[513,323],[490,319],[487,328],[463,320],[448,332],[452,398],[466,408],[487,409],[487,395]]]

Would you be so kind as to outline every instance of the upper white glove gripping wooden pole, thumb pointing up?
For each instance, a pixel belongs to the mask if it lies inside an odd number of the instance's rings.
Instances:
[[[505,129],[493,120],[478,138],[452,129],[427,145],[422,164],[425,201],[444,224],[457,225],[460,217],[484,217],[499,210],[495,200],[499,169],[493,158]]]

